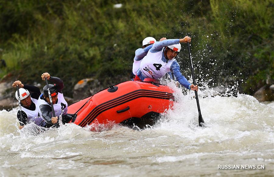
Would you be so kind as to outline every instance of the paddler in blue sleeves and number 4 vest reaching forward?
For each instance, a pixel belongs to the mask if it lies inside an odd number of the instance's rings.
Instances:
[[[193,85],[181,74],[180,65],[176,57],[181,51],[180,43],[190,42],[191,38],[167,39],[155,42],[140,63],[135,80],[157,82],[166,73],[172,72],[176,80],[185,88],[198,90],[198,85]]]

